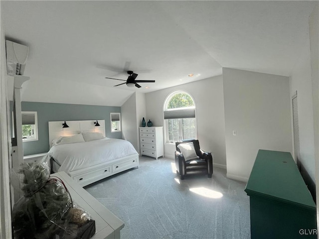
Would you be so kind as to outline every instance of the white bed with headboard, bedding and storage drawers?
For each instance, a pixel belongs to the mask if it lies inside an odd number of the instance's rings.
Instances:
[[[105,137],[105,122],[98,120],[49,122],[51,171],[65,171],[79,185],[139,166],[139,154],[127,140]]]

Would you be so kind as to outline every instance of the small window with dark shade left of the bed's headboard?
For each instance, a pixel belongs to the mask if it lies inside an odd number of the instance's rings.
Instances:
[[[13,114],[13,113],[12,113]],[[22,111],[22,141],[38,140],[38,117],[36,112]]]

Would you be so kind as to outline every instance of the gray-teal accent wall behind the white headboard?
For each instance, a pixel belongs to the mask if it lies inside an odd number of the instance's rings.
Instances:
[[[23,155],[49,151],[49,121],[104,119],[105,135],[122,138],[122,132],[111,132],[110,121],[110,113],[121,113],[121,107],[21,102],[21,108],[22,111],[36,111],[38,115],[38,140],[23,142]],[[10,109],[12,112],[13,103]]]

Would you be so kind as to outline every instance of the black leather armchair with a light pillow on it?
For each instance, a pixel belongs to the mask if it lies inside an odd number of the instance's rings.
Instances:
[[[186,145],[180,145],[185,143],[193,143],[193,149],[195,150],[195,152],[189,153],[191,152],[191,150],[185,151]],[[204,152],[200,149],[199,141],[197,139],[177,141],[175,142],[175,144],[176,173],[179,174],[181,180],[184,179],[184,176],[186,174],[190,173],[205,173],[208,175],[208,178],[211,178],[211,175],[213,174],[213,157],[211,153]],[[192,145],[188,144],[187,147],[188,146]],[[182,154],[182,151],[184,151],[184,154],[186,154],[185,152],[187,152],[186,159]]]

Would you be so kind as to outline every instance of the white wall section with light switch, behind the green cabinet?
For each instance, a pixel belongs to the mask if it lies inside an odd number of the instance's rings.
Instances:
[[[223,68],[223,83],[227,177],[247,181],[259,149],[292,152],[289,78]]]

